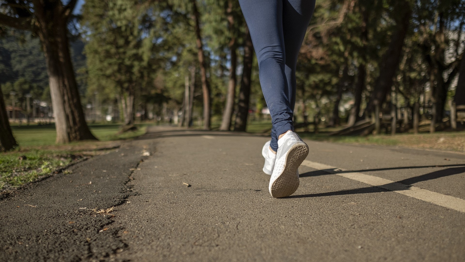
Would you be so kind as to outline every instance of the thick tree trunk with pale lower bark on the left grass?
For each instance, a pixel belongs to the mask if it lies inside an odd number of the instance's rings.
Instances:
[[[37,2],[37,3],[36,3]],[[45,53],[52,97],[56,143],[97,139],[86,124],[74,76],[67,37],[67,18],[61,1],[34,1],[37,34]]]

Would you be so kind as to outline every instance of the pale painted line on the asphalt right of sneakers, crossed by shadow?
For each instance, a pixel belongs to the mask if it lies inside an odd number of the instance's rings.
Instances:
[[[393,192],[397,192],[403,195],[407,195],[419,200],[423,200],[426,202],[433,203],[435,205],[441,206],[441,207],[447,207],[453,210],[457,210],[459,212],[465,213],[465,200],[448,196],[448,195],[443,195],[440,193],[432,192],[423,188],[419,188],[416,186],[408,186],[404,185],[402,183],[398,183],[395,181],[391,181],[388,179],[383,179],[379,177],[375,177],[372,175],[367,175],[359,172],[344,172],[344,173],[339,173],[341,171],[345,171],[333,166],[329,165],[324,165],[308,160],[304,160],[302,165],[311,167],[313,169],[317,170],[322,170],[331,174],[336,174],[341,177],[345,177],[348,179],[352,180],[357,180],[359,182],[371,185],[371,186],[377,186],[379,188],[387,189]]]

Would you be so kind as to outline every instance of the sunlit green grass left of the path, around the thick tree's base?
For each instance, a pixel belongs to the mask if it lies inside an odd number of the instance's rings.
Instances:
[[[141,136],[148,125],[137,124],[137,131],[119,134],[118,124],[90,124],[92,133],[100,141],[80,141],[66,145],[55,144],[56,131],[53,124],[12,126],[13,135],[20,146],[16,150],[0,153],[0,191],[48,176],[86,155],[96,154],[95,150],[118,146],[120,140]]]

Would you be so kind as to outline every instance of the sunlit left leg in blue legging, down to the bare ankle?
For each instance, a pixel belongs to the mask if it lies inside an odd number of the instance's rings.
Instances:
[[[278,150],[278,136],[293,130],[292,109],[285,72],[283,0],[239,0],[259,62],[260,84],[270,110],[271,148]]]

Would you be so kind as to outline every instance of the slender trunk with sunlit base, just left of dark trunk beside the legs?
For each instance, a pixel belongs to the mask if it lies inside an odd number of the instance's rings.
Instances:
[[[231,119],[233,117],[234,110],[234,98],[236,95],[236,67],[237,67],[237,42],[236,32],[234,29],[234,16],[233,16],[233,1],[228,0],[228,7],[226,10],[229,34],[231,35],[231,41],[229,41],[229,50],[231,51],[231,68],[229,69],[229,83],[226,97],[226,106],[223,111],[223,118],[219,130],[229,131],[231,128]]]

